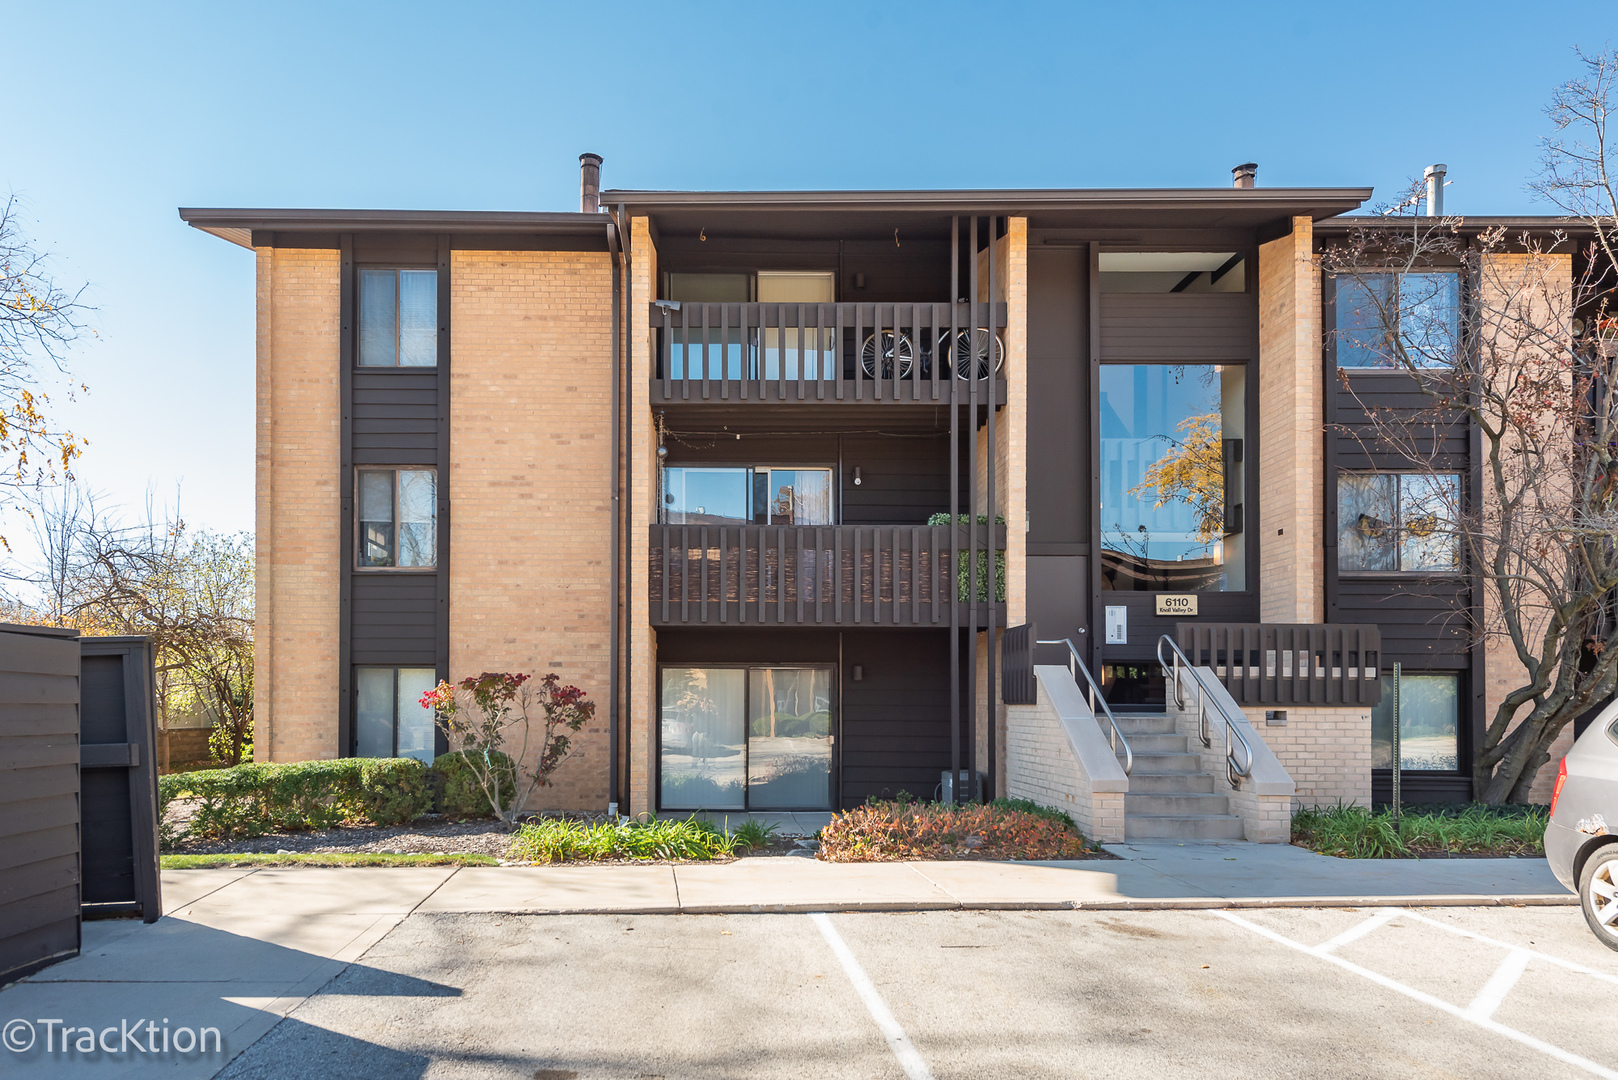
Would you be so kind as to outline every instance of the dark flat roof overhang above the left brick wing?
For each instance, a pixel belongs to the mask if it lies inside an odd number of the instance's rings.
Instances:
[[[180,220],[241,248],[254,233],[456,233],[592,240],[607,248],[607,214],[524,210],[288,210],[180,207]]]

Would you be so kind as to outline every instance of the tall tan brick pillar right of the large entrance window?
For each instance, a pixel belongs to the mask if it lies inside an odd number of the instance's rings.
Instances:
[[[1314,222],[1259,248],[1259,544],[1260,619],[1325,619],[1322,567],[1320,274]],[[1249,371],[1247,377],[1252,377]],[[1249,542],[1254,542],[1249,541]]]

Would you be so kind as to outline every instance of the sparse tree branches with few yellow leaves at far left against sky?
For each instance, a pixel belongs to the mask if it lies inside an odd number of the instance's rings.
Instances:
[[[42,387],[50,372],[66,374],[68,347],[89,311],[83,287],[68,290],[52,277],[49,256],[24,233],[16,196],[8,196],[0,206],[0,507],[23,487],[73,474],[84,442],[52,418]]]

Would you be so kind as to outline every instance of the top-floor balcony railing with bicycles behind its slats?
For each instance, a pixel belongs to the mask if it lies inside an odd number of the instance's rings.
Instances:
[[[654,301],[650,319],[654,406],[1006,400],[1003,303]]]

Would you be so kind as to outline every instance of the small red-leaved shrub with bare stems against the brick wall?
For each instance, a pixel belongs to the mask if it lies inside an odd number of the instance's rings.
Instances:
[[[434,711],[450,738],[450,753],[461,758],[493,816],[508,829],[516,827],[534,789],[549,787],[552,774],[571,753],[570,733],[595,716],[595,703],[578,687],[561,685],[555,672],[540,678],[537,690],[529,685],[531,678],[484,672],[460,683],[440,682],[421,696],[422,708]],[[537,732],[536,709],[540,714]],[[524,767],[536,740],[536,764]]]

